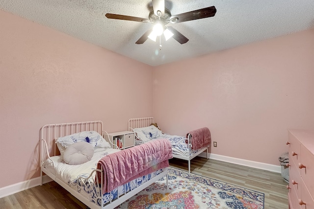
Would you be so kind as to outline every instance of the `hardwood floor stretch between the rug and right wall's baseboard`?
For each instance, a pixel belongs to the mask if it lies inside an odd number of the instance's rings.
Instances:
[[[187,170],[187,161],[171,159],[170,163]],[[264,209],[288,209],[288,183],[280,173],[201,157],[192,160],[191,173],[263,192]]]

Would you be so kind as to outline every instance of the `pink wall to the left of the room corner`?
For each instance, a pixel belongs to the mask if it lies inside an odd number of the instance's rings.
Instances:
[[[0,188],[39,176],[45,124],[153,114],[152,67],[3,11],[0,28]]]

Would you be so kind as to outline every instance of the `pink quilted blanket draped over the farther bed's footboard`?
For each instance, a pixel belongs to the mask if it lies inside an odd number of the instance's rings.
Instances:
[[[188,134],[192,136],[191,143],[193,150],[206,147],[211,143],[210,131],[207,127],[188,132],[186,138],[188,138]]]

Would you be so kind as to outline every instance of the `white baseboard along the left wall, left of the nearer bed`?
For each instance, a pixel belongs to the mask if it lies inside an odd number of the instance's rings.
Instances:
[[[51,181],[52,179],[49,176],[47,175],[43,176],[43,184],[51,182]],[[33,178],[24,182],[16,183],[14,185],[4,186],[0,188],[0,198],[11,195],[11,194],[15,194],[19,191],[23,191],[25,189],[28,189],[34,186],[39,186],[39,185],[40,185],[40,177]]]

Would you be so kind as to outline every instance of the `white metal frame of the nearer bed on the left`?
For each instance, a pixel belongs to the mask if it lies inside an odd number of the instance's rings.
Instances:
[[[96,190],[97,195],[97,201],[96,203],[93,203],[89,200],[89,198],[83,196],[80,194],[77,190],[70,187],[68,184],[64,183],[61,179],[57,178],[55,173],[52,173],[49,168],[54,168],[54,163],[51,159],[51,156],[57,155],[57,147],[56,147],[56,140],[59,137],[64,137],[67,135],[71,135],[74,133],[82,132],[82,131],[97,131],[99,134],[107,134],[103,130],[103,122],[102,121],[86,121],[86,122],[74,122],[74,123],[59,123],[59,124],[48,124],[44,125],[40,130],[40,185],[43,184],[43,173],[47,174],[50,178],[52,178],[53,181],[58,183],[60,186],[68,190],[73,196],[75,196],[78,200],[80,200],[82,203],[84,203],[88,208],[90,209],[113,209],[117,207],[118,205],[122,204],[126,200],[130,199],[132,196],[146,188],[147,186],[150,186],[163,176],[166,176],[166,185],[168,188],[168,169],[164,168],[163,172],[160,172],[159,174],[156,174],[155,177],[151,178],[145,183],[142,183],[142,185],[137,186],[133,188],[129,192],[124,192],[123,194],[119,193],[118,189],[118,197],[115,200],[111,200],[110,202],[106,203],[104,205],[103,201],[103,176],[104,176],[104,170],[103,169],[95,169],[93,170],[90,175],[87,178],[79,177],[78,181],[82,179],[85,184],[84,180],[89,180],[93,182],[94,185],[97,184],[97,182],[101,182],[101,186],[90,188],[90,190]],[[109,138],[108,138],[109,139]],[[97,175],[94,175],[94,172],[101,172],[101,180],[99,181]],[[95,179],[96,176],[96,179]],[[85,185],[86,186],[86,185]],[[126,188],[124,187],[124,190],[126,191]],[[110,191],[111,196],[111,191]],[[101,200],[101,206],[97,205],[97,202]]]

